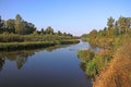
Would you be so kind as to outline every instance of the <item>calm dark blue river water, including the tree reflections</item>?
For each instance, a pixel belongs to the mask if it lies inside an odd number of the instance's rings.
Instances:
[[[91,47],[56,46],[47,49],[0,52],[0,87],[92,87],[76,51]]]

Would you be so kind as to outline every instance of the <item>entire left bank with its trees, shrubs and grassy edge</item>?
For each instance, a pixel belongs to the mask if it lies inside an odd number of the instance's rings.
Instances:
[[[68,33],[53,32],[51,26],[38,30],[17,14],[8,21],[0,16],[0,51],[44,48],[55,45],[78,44],[78,37]]]

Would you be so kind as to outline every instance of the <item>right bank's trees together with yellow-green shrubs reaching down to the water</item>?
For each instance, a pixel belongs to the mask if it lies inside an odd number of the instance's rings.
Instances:
[[[124,35],[131,35],[131,17],[120,16],[117,21],[109,17],[107,20],[107,26],[104,29],[98,32],[93,29],[90,34],[83,35],[82,39],[88,40],[92,44],[95,42],[98,45],[102,44],[102,46],[111,46],[114,45],[112,38]]]

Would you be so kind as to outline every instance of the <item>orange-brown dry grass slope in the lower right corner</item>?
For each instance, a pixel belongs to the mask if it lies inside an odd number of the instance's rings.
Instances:
[[[124,41],[112,61],[96,77],[93,87],[131,87],[131,41]]]

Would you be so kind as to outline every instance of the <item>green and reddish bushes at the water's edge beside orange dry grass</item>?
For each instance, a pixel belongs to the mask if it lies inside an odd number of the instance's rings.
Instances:
[[[104,69],[111,59],[109,50],[100,50],[95,53],[91,50],[81,50],[78,52],[87,76],[95,77],[102,69]]]

